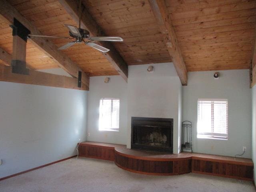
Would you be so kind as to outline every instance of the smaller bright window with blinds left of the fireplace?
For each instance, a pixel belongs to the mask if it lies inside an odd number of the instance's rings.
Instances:
[[[100,122],[101,131],[119,130],[119,104],[120,100],[116,98],[100,99]]]

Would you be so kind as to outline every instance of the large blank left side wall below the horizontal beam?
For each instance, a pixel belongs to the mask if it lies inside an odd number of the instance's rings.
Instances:
[[[76,154],[87,91],[0,82],[0,178]]]

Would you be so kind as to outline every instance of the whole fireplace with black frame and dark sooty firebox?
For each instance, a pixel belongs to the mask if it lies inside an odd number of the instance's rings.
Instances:
[[[132,117],[131,148],[173,152],[173,119]]]

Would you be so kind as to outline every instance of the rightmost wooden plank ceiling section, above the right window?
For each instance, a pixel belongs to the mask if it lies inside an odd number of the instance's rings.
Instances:
[[[248,69],[255,0],[166,0],[188,71]]]

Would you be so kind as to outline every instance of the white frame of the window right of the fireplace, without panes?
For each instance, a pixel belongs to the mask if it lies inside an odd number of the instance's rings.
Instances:
[[[211,103],[211,132],[198,132],[199,120],[199,102],[210,101]],[[212,120],[212,113],[214,112],[213,102],[226,102],[226,136],[225,134],[214,133],[214,120]],[[198,99],[197,103],[197,138],[199,139],[216,139],[216,140],[228,140],[228,99]]]

